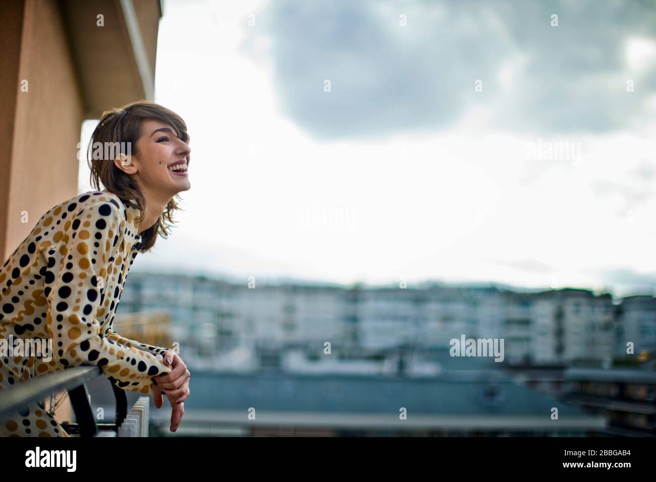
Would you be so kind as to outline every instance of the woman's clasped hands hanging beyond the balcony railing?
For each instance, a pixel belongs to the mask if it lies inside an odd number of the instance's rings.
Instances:
[[[153,391],[155,407],[161,409],[164,401],[162,394],[166,395],[171,403],[171,432],[178,430],[184,415],[184,401],[189,397],[189,380],[191,373],[182,361],[182,358],[173,350],[164,353],[164,361],[171,365],[171,373],[153,377]]]

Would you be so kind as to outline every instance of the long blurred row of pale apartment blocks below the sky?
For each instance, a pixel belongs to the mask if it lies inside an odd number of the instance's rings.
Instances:
[[[428,285],[335,287],[243,283],[133,271],[119,311],[167,310],[174,336],[203,355],[215,348],[301,347],[330,342],[342,351],[448,349],[452,338],[504,338],[508,365],[592,363],[607,366],[617,336],[653,352],[653,298],[627,298],[619,311],[610,294],[583,289],[514,292],[495,287]],[[621,318],[618,321],[618,316]]]

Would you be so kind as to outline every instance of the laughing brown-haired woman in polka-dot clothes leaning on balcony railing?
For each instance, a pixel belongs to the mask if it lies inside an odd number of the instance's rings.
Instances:
[[[170,430],[177,430],[190,393],[186,365],[173,350],[124,338],[112,325],[134,258],[150,251],[158,235],[167,237],[178,209],[174,197],[191,187],[188,142],[180,116],[152,102],[104,113],[89,149],[95,191],[43,214],[0,269],[0,342],[52,346],[36,355],[0,352],[0,390],[97,365],[123,390],[154,394],[157,408],[166,395]],[[41,402],[3,420],[0,435],[69,436]]]

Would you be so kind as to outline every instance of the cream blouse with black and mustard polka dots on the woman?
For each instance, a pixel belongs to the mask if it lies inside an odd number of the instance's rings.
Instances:
[[[113,193],[90,191],[43,214],[9,256],[0,270],[0,338],[51,338],[52,360],[0,356],[0,389],[97,365],[123,390],[151,394],[152,377],[171,372],[167,348],[112,329],[140,247],[139,214]]]

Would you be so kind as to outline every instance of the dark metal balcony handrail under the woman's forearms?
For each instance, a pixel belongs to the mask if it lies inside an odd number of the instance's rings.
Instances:
[[[29,382],[21,382],[15,387],[2,391],[0,399],[0,419],[34,401],[41,401],[60,390],[68,390],[71,406],[75,412],[81,437],[93,437],[98,427],[93,417],[86,382],[104,376],[100,367],[70,367],[47,375],[37,376]],[[125,390],[112,384],[116,399],[115,426],[119,426],[127,415],[127,395]]]

